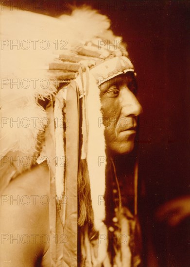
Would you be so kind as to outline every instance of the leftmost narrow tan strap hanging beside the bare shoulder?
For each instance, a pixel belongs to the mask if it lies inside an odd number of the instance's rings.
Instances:
[[[46,155],[48,157],[48,164],[50,170],[50,204],[49,204],[49,220],[50,220],[50,254],[51,254],[51,267],[63,266],[63,244],[64,233],[63,227],[59,216],[59,210],[56,206],[56,157],[55,157],[55,118],[53,114],[53,102],[46,108],[49,126],[45,131],[45,146]],[[58,162],[60,164],[60,162]],[[58,203],[59,201],[57,201]]]

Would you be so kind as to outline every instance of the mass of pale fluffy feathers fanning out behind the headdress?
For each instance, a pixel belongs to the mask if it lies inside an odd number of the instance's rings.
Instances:
[[[17,9],[10,11],[5,7],[0,15],[3,40],[1,116],[8,117],[9,121],[15,117],[28,117],[30,120],[38,117],[40,121],[46,115],[37,106],[36,98],[51,97],[56,92],[56,86],[49,79],[47,71],[49,63],[57,55],[70,53],[75,47],[84,45],[86,41],[103,33],[109,28],[109,19],[88,8],[74,10],[71,16],[63,15],[60,18],[18,12]],[[14,45],[16,43],[17,46]],[[49,48],[45,49],[47,44]],[[66,50],[60,50],[63,45]],[[27,46],[28,49],[25,49]],[[42,127],[38,124],[34,129],[32,125],[31,123],[31,127],[23,129],[11,128],[9,123],[4,124],[1,132],[2,155],[9,150],[28,153],[30,147],[33,154],[36,136]],[[27,139],[30,142],[25,142]]]

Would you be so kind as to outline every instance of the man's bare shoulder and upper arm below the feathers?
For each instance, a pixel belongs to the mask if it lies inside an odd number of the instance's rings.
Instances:
[[[47,250],[49,169],[19,175],[1,195],[1,266],[35,266]],[[10,252],[11,251],[11,252]]]

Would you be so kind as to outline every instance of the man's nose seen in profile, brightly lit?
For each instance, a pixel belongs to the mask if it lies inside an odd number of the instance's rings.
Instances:
[[[125,117],[130,115],[138,116],[142,113],[140,103],[128,88],[124,88],[121,94],[121,112]]]

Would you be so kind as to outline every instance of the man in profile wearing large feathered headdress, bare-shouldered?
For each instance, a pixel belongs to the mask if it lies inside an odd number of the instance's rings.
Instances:
[[[89,8],[1,18],[1,266],[139,266],[141,106],[121,37]]]

